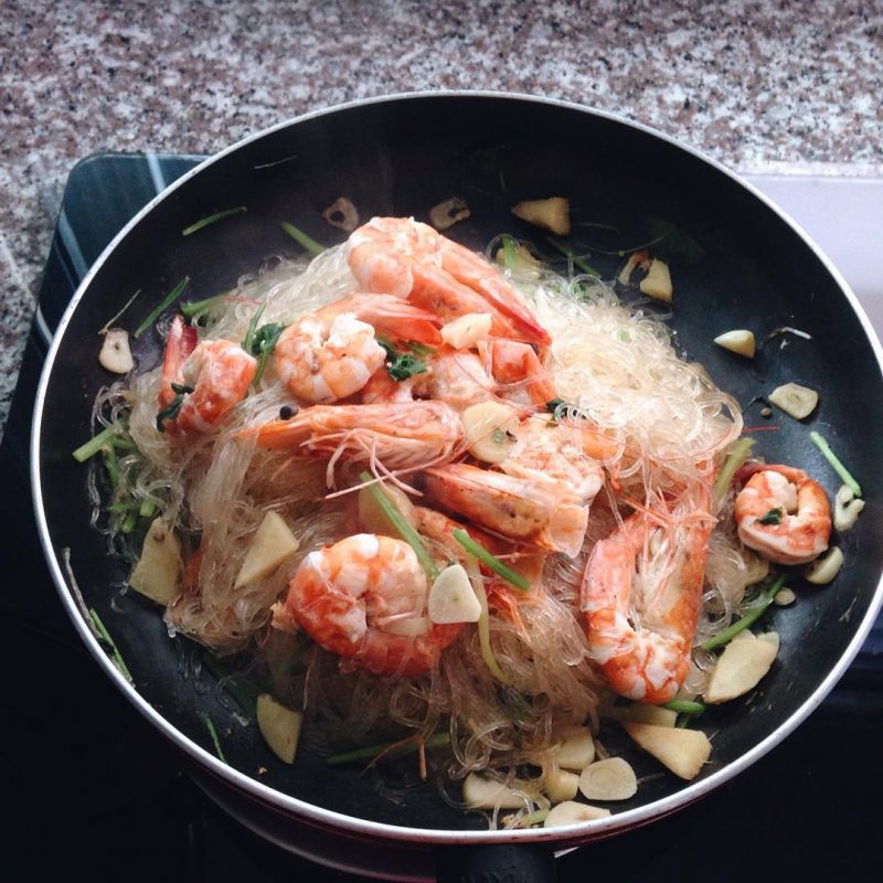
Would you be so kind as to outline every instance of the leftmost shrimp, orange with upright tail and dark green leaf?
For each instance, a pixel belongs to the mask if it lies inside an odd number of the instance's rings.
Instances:
[[[196,330],[175,316],[166,342],[159,405],[161,412],[175,401],[179,406],[161,419],[162,429],[171,435],[209,432],[245,398],[256,370],[257,360],[238,343],[196,343]]]

